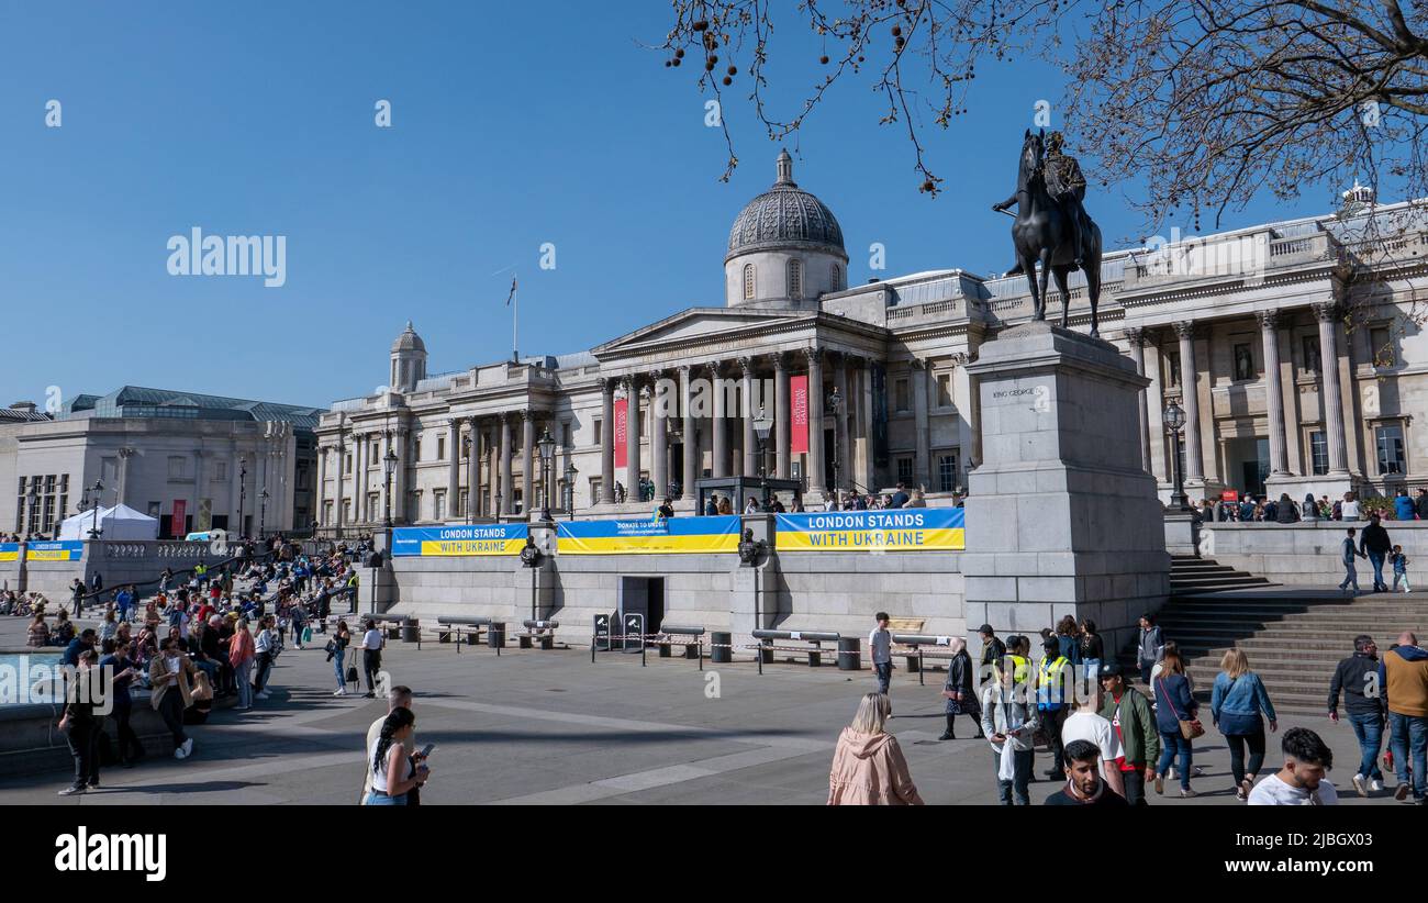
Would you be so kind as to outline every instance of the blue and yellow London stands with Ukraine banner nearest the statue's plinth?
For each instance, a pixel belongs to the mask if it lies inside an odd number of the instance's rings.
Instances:
[[[780,552],[961,552],[962,509],[778,514]]]

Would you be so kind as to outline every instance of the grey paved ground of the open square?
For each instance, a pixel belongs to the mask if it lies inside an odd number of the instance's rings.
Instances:
[[[0,619],[0,644],[23,643],[24,619]],[[134,769],[109,769],[103,789],[59,799],[67,774],[47,772],[0,782],[0,804],[354,803],[363,777],[367,726],[384,703],[333,697],[336,677],[320,649],[283,653],[273,699],[250,712],[220,710],[194,727],[193,757],[150,756]],[[494,650],[457,654],[450,644],[393,643],[386,656],[396,683],[417,692],[418,743],[436,743],[424,804],[450,803],[805,803],[828,793],[838,732],[871,672],[838,672],[778,663],[760,676],[751,660],[700,672],[683,659],[648,659],[587,649]],[[1325,676],[1325,682],[1327,682]],[[942,674],[894,673],[890,723],[907,753],[922,797],[932,804],[991,804],[995,763],[984,740],[940,742]],[[717,693],[715,693],[717,690]],[[1358,762],[1352,730],[1327,719],[1287,717],[1334,747],[1335,784],[1348,804],[1359,800],[1349,776]],[[958,733],[974,733],[960,719]],[[1277,767],[1278,743],[1271,736]],[[1205,776],[1192,800],[1151,797],[1151,804],[1238,804],[1230,787],[1230,754],[1218,733],[1197,742]],[[1038,756],[1037,770],[1047,767]],[[1032,784],[1040,803],[1060,784]]]

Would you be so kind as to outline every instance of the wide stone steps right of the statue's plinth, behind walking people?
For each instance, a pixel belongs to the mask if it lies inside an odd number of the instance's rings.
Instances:
[[[1221,656],[1237,647],[1278,712],[1324,714],[1334,667],[1352,654],[1354,637],[1367,633],[1387,650],[1402,630],[1422,636],[1428,600],[1422,593],[1352,597],[1259,584],[1175,593],[1157,622],[1164,637],[1180,644],[1202,704],[1210,702]],[[1208,723],[1208,709],[1205,716]]]

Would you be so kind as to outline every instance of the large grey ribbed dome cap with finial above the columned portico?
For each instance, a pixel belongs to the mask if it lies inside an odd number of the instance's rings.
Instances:
[[[807,249],[844,260],[843,229],[833,211],[794,181],[793,157],[778,154],[778,180],[748,201],[728,233],[728,261],[740,254],[775,249]]]

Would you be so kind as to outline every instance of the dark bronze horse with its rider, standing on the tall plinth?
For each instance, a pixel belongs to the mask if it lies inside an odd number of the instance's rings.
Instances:
[[[1021,143],[1021,163],[1017,169],[1017,193],[994,204],[1005,211],[1017,204],[1011,240],[1017,249],[1017,266],[1007,276],[1024,273],[1031,289],[1032,320],[1047,319],[1047,279],[1055,276],[1061,293],[1061,327],[1067,329],[1067,274],[1075,269],[1085,271],[1087,294],[1091,299],[1091,336],[1098,339],[1097,304],[1101,300],[1101,229],[1085,217],[1077,223],[1065,207],[1047,190],[1045,144],[1042,133],[1028,129]],[[1011,216],[1011,214],[1008,214]],[[1082,253],[1077,256],[1077,247]],[[1040,284],[1037,264],[1041,264]]]

